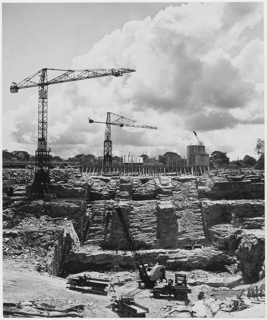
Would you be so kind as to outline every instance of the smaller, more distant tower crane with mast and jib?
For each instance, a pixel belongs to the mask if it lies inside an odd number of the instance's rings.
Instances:
[[[110,120],[110,114],[116,115],[119,118],[115,121]],[[112,140],[111,140],[111,125],[120,126],[120,127],[135,127],[135,128],[146,128],[146,129],[158,129],[157,127],[147,126],[141,123],[138,123],[135,120],[123,117],[115,113],[107,112],[106,122],[95,121],[89,118],[89,123],[105,123],[105,139],[104,139],[104,163],[111,163],[112,155]]]

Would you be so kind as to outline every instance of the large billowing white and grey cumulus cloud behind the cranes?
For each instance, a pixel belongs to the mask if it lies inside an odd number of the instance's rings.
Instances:
[[[49,96],[51,144],[62,154],[73,154],[78,146],[78,153],[102,154],[104,126],[89,125],[88,117],[107,111],[159,127],[157,132],[125,131],[125,148],[116,151],[124,153],[126,146],[138,153],[144,148],[186,152],[193,130],[215,147],[213,131],[261,124],[263,41],[256,31],[253,36],[259,23],[263,4],[258,2],[173,4],[155,17],[125,23],[74,57],[72,68],[136,72],[77,81],[54,91]],[[30,141],[35,132],[26,117],[21,112],[23,121],[14,122],[20,142]],[[230,151],[231,144],[232,139],[222,145]]]

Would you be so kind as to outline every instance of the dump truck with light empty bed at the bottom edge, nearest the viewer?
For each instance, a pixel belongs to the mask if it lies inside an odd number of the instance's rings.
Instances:
[[[148,308],[136,303],[131,296],[121,296],[118,300],[115,299],[111,304],[112,311],[116,308],[119,311],[123,311],[124,318],[145,318],[145,314],[148,313]]]

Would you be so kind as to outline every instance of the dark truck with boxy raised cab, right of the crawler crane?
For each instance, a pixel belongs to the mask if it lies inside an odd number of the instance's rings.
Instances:
[[[186,300],[188,299],[187,294],[191,293],[191,289],[188,288],[186,282],[186,275],[177,273],[175,274],[174,285],[172,285],[172,281],[169,280],[168,284],[154,286],[154,288],[150,290],[150,293],[152,293],[156,299],[159,299],[161,295],[163,295],[174,296],[177,300]]]

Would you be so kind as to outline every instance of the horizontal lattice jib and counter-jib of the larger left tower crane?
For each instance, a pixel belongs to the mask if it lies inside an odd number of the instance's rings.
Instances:
[[[47,78],[43,79],[43,76],[42,76],[42,73],[47,70],[65,71],[65,73],[55,77],[54,79],[47,81]],[[30,75],[26,79],[22,80],[19,84],[17,84],[16,82],[12,82],[10,86],[10,92],[17,93],[19,89],[40,87],[40,86],[46,86],[50,84],[77,81],[77,80],[89,79],[89,78],[97,78],[97,77],[107,76],[107,75],[113,75],[118,77],[118,76],[122,76],[124,73],[129,73],[129,72],[135,72],[135,70],[125,69],[125,68],[93,69],[93,70],[61,70],[61,69],[43,68],[37,73]],[[37,75],[41,76],[40,81],[34,82],[33,78]]]

